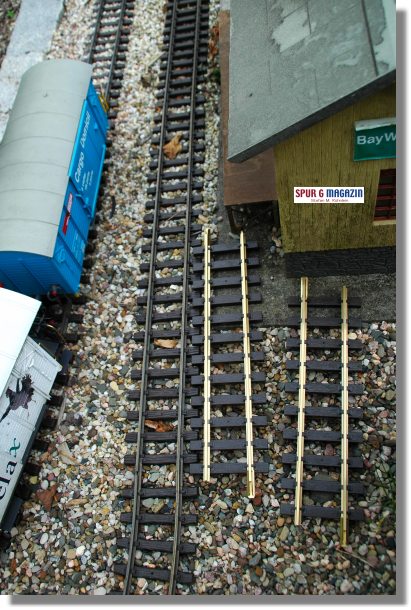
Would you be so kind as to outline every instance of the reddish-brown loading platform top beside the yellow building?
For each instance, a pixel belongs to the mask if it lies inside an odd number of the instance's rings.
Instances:
[[[272,150],[266,150],[240,164],[230,163],[227,160],[230,52],[230,13],[228,11],[220,12],[219,26],[224,204],[242,205],[274,201],[277,199],[277,192],[275,188],[274,154]]]

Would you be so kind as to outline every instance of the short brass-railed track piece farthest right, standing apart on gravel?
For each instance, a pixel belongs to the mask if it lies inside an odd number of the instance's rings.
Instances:
[[[288,320],[289,326],[300,329],[300,336],[286,343],[287,351],[299,354],[298,359],[286,362],[291,374],[298,373],[298,380],[287,383],[285,390],[298,395],[298,404],[286,405],[284,413],[297,418],[297,427],[286,428],[283,435],[287,442],[296,441],[297,449],[283,454],[283,463],[295,465],[295,479],[281,481],[282,488],[294,492],[294,504],[282,504],[281,513],[294,516],[295,525],[310,517],[338,519],[340,542],[346,545],[349,520],[363,518],[362,509],[349,502],[350,496],[364,493],[363,484],[349,476],[352,470],[363,468],[362,458],[350,455],[350,447],[362,442],[362,432],[350,422],[362,418],[355,400],[364,387],[350,380],[362,371],[362,363],[350,358],[358,354],[362,343],[350,337],[349,329],[361,328],[361,320],[348,317],[348,309],[361,303],[348,297],[345,287],[340,296],[310,298],[308,278],[303,277],[300,298],[290,299],[289,305],[301,309],[300,316]],[[340,315],[313,316],[308,309],[337,309]],[[333,336],[324,337],[320,329]],[[311,380],[318,374],[320,382]],[[320,503],[304,502],[309,494],[317,495]]]

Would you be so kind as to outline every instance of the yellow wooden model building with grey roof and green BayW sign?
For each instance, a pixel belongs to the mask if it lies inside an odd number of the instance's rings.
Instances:
[[[231,3],[227,158],[271,151],[287,275],[395,271],[395,65],[394,0]]]

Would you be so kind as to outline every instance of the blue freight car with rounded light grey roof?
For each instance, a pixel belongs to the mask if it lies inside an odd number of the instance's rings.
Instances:
[[[0,145],[0,285],[77,291],[107,129],[89,64],[50,60],[24,74]]]

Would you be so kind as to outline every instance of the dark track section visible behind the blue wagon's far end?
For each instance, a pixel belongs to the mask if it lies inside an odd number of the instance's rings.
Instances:
[[[103,94],[108,118],[115,119],[122,87],[135,0],[100,0],[87,61],[93,64],[93,81]]]

